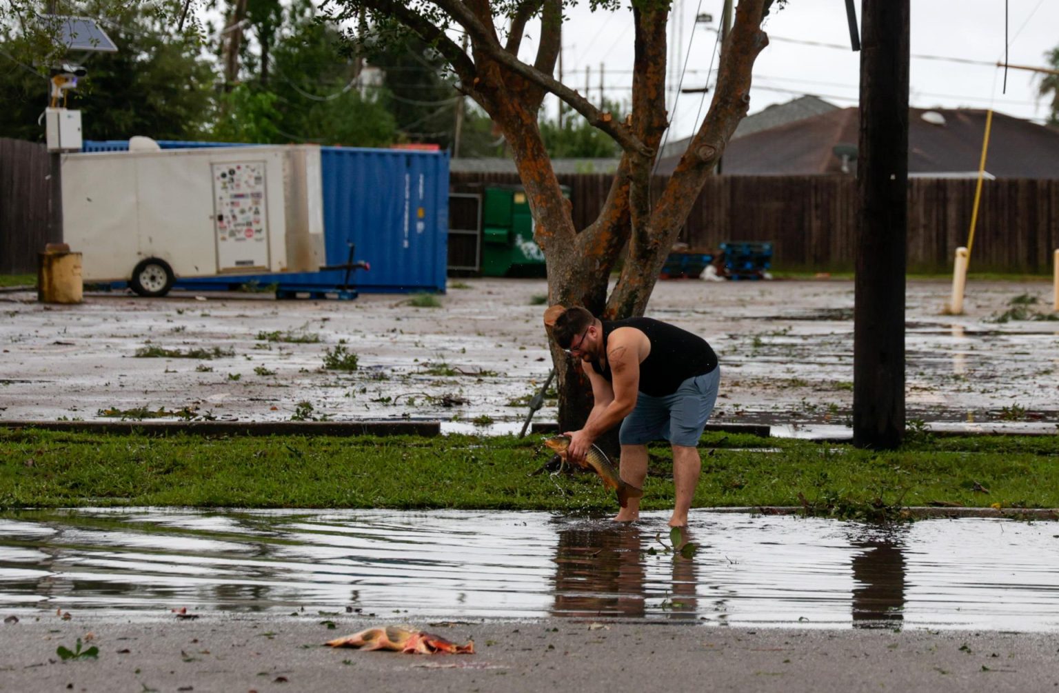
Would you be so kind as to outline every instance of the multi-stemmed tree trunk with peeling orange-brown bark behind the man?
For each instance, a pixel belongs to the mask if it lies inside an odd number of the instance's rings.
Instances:
[[[713,173],[747,113],[751,70],[768,45],[760,30],[761,20],[773,0],[739,0],[733,30],[722,47],[710,111],[657,202],[651,198],[651,171],[668,127],[667,3],[633,0],[632,113],[622,122],[552,76],[560,31],[540,32],[534,65],[518,58],[527,19],[539,7],[541,21],[558,26],[560,0],[526,0],[520,4],[510,17],[506,46],[501,45],[496,26],[498,19],[506,17],[497,14],[490,0],[430,0],[443,16],[427,14],[421,12],[423,6],[400,0],[330,2],[342,11],[366,6],[380,16],[396,17],[438,47],[460,75],[462,90],[492,118],[510,146],[536,221],[535,239],[546,260],[549,303],[584,305],[604,319],[620,319],[643,315],[659,271],[706,176]],[[469,54],[445,33],[450,20],[469,37]],[[537,125],[538,109],[546,93],[557,95],[581,113],[624,150],[599,215],[581,230],[574,228],[570,201],[562,196]],[[626,261],[608,299],[608,280],[623,248],[627,249]],[[554,342],[552,358],[559,377],[560,427],[579,428],[591,408],[591,390],[577,363]]]

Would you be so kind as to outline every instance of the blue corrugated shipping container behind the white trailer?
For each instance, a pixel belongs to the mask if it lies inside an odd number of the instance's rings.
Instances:
[[[164,149],[232,146],[160,141]],[[121,152],[128,142],[85,142],[85,152]],[[324,247],[327,265],[354,260],[371,270],[349,273],[357,291],[445,291],[448,256],[449,156],[444,152],[321,147]],[[240,274],[177,281],[208,290],[254,282],[283,291],[323,292],[342,286],[345,270]]]

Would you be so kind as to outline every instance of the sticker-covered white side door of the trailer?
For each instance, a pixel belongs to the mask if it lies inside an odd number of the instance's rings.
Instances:
[[[268,267],[265,162],[237,161],[211,166],[217,270]]]

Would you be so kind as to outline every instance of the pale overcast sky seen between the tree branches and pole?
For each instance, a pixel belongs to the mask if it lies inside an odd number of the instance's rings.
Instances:
[[[856,0],[858,25],[860,4]],[[674,64],[686,60],[684,88],[706,83],[722,5],[722,0],[701,0],[701,4],[699,0],[676,0],[670,45],[681,48],[679,60],[674,55],[676,49],[670,56]],[[912,0],[913,106],[991,107],[1043,121],[1048,109],[1046,100],[1037,96],[1039,75],[1009,69],[1006,93],[1002,93],[1004,70],[995,63],[1004,58],[1004,0]],[[1046,67],[1044,53],[1059,46],[1059,0],[1008,0],[1008,61]],[[714,21],[696,26],[697,14],[711,14]],[[572,21],[563,38],[563,81],[584,93],[588,67],[591,97],[598,101],[602,63],[607,97],[628,100],[632,84],[631,12],[593,14],[580,6],[568,16]],[[842,107],[857,105],[860,54],[849,50],[844,0],[790,0],[786,8],[766,20],[765,30],[770,45],[754,65],[750,112],[807,93]],[[532,36],[533,30],[527,31]],[[526,41],[521,56],[532,59],[535,50],[533,41]],[[716,58],[713,68],[716,71]],[[672,82],[678,83],[678,76]],[[676,91],[672,86],[670,90]],[[700,105],[701,94],[679,94],[675,131],[669,137],[689,135],[700,108],[708,107],[708,99],[710,94],[705,105]]]

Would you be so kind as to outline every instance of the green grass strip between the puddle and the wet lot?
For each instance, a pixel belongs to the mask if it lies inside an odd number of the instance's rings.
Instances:
[[[1059,508],[1059,437],[921,439],[892,452],[708,433],[697,508],[801,505],[845,518],[936,502]],[[651,447],[643,508],[672,504]],[[0,508],[452,508],[608,512],[591,474],[532,475],[540,438],[202,438],[0,428]]]

